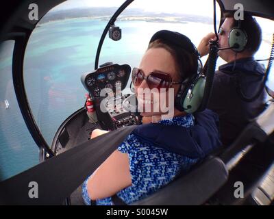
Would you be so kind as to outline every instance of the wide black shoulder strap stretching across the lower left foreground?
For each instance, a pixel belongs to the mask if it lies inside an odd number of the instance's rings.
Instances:
[[[135,128],[111,131],[0,182],[0,205],[61,205]]]

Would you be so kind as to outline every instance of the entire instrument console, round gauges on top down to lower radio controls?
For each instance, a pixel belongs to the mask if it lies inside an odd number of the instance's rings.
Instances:
[[[98,123],[105,130],[138,124],[138,118],[123,107],[125,96],[122,90],[127,86],[130,73],[128,64],[108,62],[81,77],[95,103]]]

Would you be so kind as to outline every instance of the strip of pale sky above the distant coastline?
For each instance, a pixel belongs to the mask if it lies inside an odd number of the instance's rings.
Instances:
[[[125,0],[68,0],[53,10],[88,7],[119,7]],[[150,12],[178,12],[213,16],[212,0],[135,0],[128,8],[142,8]],[[219,5],[217,5],[219,11]]]

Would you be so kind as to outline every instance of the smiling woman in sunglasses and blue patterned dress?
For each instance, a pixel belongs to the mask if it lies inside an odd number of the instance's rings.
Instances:
[[[174,38],[185,46],[180,47],[175,44]],[[194,116],[180,112],[176,105],[173,118],[161,119],[164,112],[153,110],[159,108],[154,106],[156,104],[159,106],[161,99],[158,101],[151,96],[151,100],[147,100],[141,92],[146,88],[150,90],[157,88],[160,94],[160,88],[166,88],[165,101],[168,102],[167,91],[173,89],[172,98],[175,99],[179,89],[185,86],[183,82],[197,75],[198,54],[192,51],[196,51],[195,46],[182,34],[172,31],[159,31],[154,34],[140,66],[134,68],[132,72],[138,106],[147,109],[149,105],[152,109],[151,112],[142,112],[142,116],[151,117],[153,123],[168,127],[188,128],[194,125]],[[92,133],[92,138],[105,132],[96,129]],[[179,172],[188,170],[198,161],[199,158],[173,153],[132,133],[86,179],[83,184],[84,201],[87,205],[90,205],[91,200],[96,201],[97,205],[113,205],[112,196],[116,194],[124,203],[133,203],[170,183]]]

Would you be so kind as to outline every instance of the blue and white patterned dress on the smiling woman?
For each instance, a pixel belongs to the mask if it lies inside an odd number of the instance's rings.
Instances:
[[[191,127],[194,125],[194,117],[188,114],[169,120],[160,120],[159,123]],[[169,136],[166,136],[166,138],[169,138]],[[121,153],[127,153],[129,156],[129,171],[132,175],[132,185],[117,192],[117,196],[127,204],[149,196],[149,194],[173,181],[179,172],[182,170],[187,171],[190,166],[198,162],[198,159],[177,155],[166,149],[156,147],[149,142],[142,142],[134,134],[127,136],[118,150]],[[82,187],[86,205],[90,205],[86,186],[88,179],[84,181]],[[112,198],[98,199],[97,205],[113,205]]]

